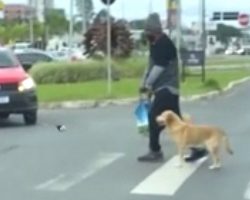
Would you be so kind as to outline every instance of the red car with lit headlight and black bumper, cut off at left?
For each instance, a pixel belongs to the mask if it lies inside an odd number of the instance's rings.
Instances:
[[[37,94],[34,80],[14,53],[0,47],[0,119],[22,114],[27,125],[37,122]]]

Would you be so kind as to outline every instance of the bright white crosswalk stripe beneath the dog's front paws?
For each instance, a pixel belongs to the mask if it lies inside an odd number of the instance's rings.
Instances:
[[[143,195],[167,195],[173,196],[182,184],[207,160],[202,158],[199,161],[176,167],[179,157],[174,156],[161,168],[149,175],[143,182],[136,186],[131,193]]]

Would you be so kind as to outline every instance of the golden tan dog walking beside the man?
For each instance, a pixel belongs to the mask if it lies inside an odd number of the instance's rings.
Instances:
[[[180,119],[170,110],[164,111],[156,118],[159,125],[166,126],[171,138],[176,143],[180,156],[179,166],[181,167],[184,164],[184,153],[188,148],[204,146],[209,151],[213,161],[209,169],[220,168],[221,146],[224,145],[226,151],[233,154],[225,132],[215,126],[195,125],[189,117],[183,118],[183,120]]]

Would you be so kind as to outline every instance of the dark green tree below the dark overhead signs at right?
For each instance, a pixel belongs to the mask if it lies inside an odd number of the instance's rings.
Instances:
[[[218,24],[217,30],[216,30],[216,37],[217,40],[221,41],[224,44],[228,44],[229,39],[231,37],[241,37],[242,33],[239,29],[233,27],[233,26],[228,26],[224,24]]]

